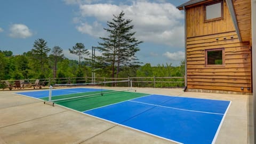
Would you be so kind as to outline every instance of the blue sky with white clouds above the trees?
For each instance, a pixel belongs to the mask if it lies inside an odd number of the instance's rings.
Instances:
[[[0,50],[20,55],[43,38],[47,47],[60,46],[65,57],[77,60],[68,48],[83,43],[91,52],[99,37],[107,37],[107,21],[123,11],[132,20],[134,37],[143,41],[136,54],[140,62],[177,66],[185,57],[185,37],[184,12],[176,6],[187,1],[0,0]]]

